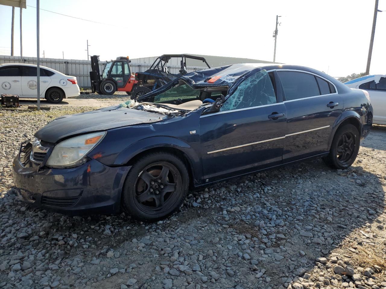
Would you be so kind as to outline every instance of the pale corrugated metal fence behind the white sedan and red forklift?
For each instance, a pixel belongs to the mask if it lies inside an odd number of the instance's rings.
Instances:
[[[155,59],[156,57],[150,57]],[[149,59],[150,59],[149,58]],[[154,59],[149,63],[130,63],[131,72],[143,72],[149,69]],[[176,63],[174,63],[176,62]],[[174,61],[168,64],[169,72],[178,74],[181,67],[178,65],[177,61]],[[9,56],[9,55],[0,55],[0,64],[3,63],[27,63],[27,64],[36,64],[36,57],[23,57],[20,56]],[[102,74],[103,68],[106,66],[106,61],[99,62],[99,69]],[[66,75],[75,76],[78,80],[78,85],[80,87],[90,87],[90,71],[91,71],[91,61],[90,60],[77,60],[77,59],[57,59],[57,58],[40,58],[40,65],[46,66],[57,71],[60,71]],[[207,67],[200,66],[188,66],[186,70],[188,72],[197,71]]]

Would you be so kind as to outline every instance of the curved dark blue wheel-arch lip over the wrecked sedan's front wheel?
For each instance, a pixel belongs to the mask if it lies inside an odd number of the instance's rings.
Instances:
[[[115,159],[114,165],[124,165],[136,155],[153,148],[175,148],[186,155],[190,163],[193,173],[193,180],[202,176],[202,167],[200,156],[196,151],[185,141],[171,136],[152,136],[150,138],[141,139],[136,143],[125,148]]]

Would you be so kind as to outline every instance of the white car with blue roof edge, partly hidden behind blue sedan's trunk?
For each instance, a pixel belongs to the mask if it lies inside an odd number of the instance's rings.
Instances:
[[[386,75],[366,75],[344,84],[350,88],[364,89],[369,92],[374,109],[372,123],[386,124]]]

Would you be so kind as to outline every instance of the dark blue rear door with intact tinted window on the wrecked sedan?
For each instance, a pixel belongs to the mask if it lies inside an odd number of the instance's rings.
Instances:
[[[343,103],[332,82],[306,71],[278,70],[287,110],[283,163],[328,150]]]

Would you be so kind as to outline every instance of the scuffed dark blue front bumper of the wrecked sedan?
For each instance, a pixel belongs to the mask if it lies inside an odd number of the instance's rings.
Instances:
[[[13,162],[20,200],[65,215],[110,214],[120,210],[120,195],[130,166],[109,167],[91,159],[68,169],[32,167]]]

